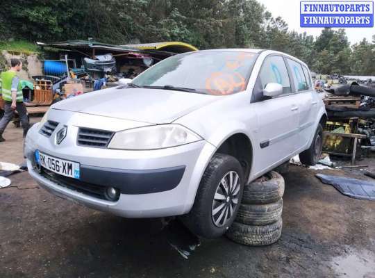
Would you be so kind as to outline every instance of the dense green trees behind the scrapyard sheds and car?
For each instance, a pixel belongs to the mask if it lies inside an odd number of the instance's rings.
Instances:
[[[290,31],[281,17],[272,17],[256,0],[1,3],[1,41],[52,42],[91,37],[114,44],[177,40],[199,49],[256,47],[301,58],[316,72],[375,75],[374,42],[364,40],[350,47],[344,29],[330,28],[315,40],[306,33]],[[24,49],[12,43],[0,44],[0,49],[4,48]]]

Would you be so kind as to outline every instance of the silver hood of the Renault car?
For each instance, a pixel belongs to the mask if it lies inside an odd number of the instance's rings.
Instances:
[[[109,88],[53,104],[53,109],[124,120],[169,123],[220,99],[192,92],[146,88]]]

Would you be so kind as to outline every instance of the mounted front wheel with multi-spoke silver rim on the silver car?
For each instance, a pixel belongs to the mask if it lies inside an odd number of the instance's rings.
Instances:
[[[230,177],[228,175],[231,172],[237,174],[239,180],[235,184],[233,195],[228,196],[229,199],[214,199],[215,196],[219,195],[221,195],[220,198],[225,197],[226,193],[222,180],[225,178],[228,181],[227,178]],[[233,181],[235,180],[234,177],[233,174]],[[240,162],[233,156],[215,154],[203,174],[192,210],[187,215],[181,216],[180,219],[194,234],[205,238],[218,238],[231,227],[235,220],[241,203],[243,188],[244,174]],[[230,206],[232,207],[232,213]],[[220,207],[222,209],[218,210]],[[219,219],[223,210],[225,210],[224,216]],[[225,220],[226,213],[228,213],[228,218]]]

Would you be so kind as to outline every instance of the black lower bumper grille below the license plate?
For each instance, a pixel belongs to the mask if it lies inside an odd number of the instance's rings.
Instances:
[[[62,176],[60,174],[56,174],[45,168],[42,168],[40,174],[46,179],[49,179],[50,181],[57,183],[59,186],[63,186],[70,190],[78,191],[91,197],[104,199],[111,202],[116,202],[118,200],[118,197],[115,200],[110,200],[106,197],[106,186],[98,186],[92,183],[85,183],[78,179],[73,179],[70,177]]]

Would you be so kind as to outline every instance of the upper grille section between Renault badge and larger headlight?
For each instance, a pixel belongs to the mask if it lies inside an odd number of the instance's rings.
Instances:
[[[77,144],[85,147],[107,147],[112,136],[112,131],[80,127],[78,130]]]

